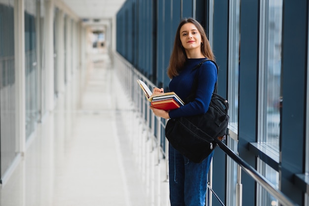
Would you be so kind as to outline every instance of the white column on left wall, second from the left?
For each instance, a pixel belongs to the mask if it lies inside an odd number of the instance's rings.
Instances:
[[[54,32],[53,0],[45,0],[45,60],[46,60],[46,109],[51,111],[54,108]]]

